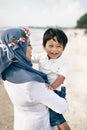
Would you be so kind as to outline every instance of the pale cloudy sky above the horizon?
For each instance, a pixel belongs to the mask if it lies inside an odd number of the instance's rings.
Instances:
[[[0,27],[74,27],[87,13],[87,0],[0,0]]]

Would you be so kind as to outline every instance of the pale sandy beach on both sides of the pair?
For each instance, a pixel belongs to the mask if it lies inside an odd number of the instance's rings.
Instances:
[[[64,55],[69,60],[66,78],[69,112],[65,114],[71,130],[87,129],[87,34],[66,30],[69,42]],[[13,107],[0,81],[0,130],[13,130]]]

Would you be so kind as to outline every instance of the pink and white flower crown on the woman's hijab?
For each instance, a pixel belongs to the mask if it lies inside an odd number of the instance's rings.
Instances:
[[[23,27],[24,32],[19,39],[13,37],[10,39],[9,46],[15,46],[19,42],[25,42],[26,37],[29,37],[31,32],[28,28]]]

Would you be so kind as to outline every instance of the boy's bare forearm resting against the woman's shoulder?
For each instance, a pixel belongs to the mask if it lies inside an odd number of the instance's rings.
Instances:
[[[64,80],[65,77],[63,75],[58,75],[58,78],[50,86],[53,88],[53,90],[55,90],[64,82]]]

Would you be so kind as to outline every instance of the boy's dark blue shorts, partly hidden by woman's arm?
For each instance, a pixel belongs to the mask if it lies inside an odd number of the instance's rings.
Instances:
[[[61,91],[54,90],[56,94],[58,94],[60,97],[65,98],[66,96],[66,88],[62,87]],[[50,124],[51,126],[60,125],[64,122],[66,122],[64,116],[62,114],[56,113],[55,111],[49,109],[50,112]]]

